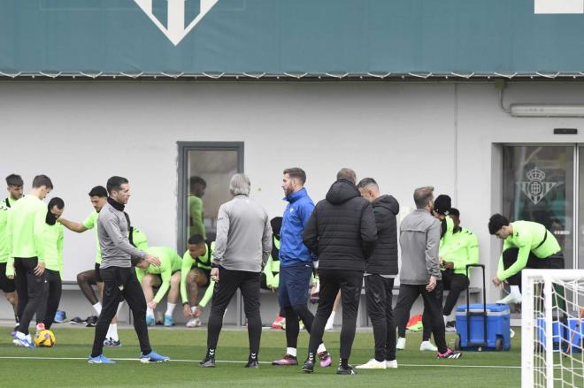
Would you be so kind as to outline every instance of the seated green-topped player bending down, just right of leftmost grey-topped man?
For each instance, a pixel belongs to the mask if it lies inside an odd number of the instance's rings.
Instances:
[[[162,301],[165,294],[166,298],[166,312],[165,312],[165,326],[171,327],[174,324],[173,311],[176,307],[176,302],[179,300],[179,288],[181,285],[181,256],[170,247],[149,247],[146,253],[158,257],[160,266],[155,267],[150,265],[150,262],[142,260],[136,263],[136,276],[138,281],[142,284],[144,296],[146,297],[146,323],[149,326],[154,326],[156,320],[154,318],[154,310],[158,303]],[[158,292],[154,295],[154,287],[158,287]]]

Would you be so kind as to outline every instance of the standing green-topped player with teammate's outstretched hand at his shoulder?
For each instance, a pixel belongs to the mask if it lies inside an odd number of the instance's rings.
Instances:
[[[63,225],[57,222],[65,210],[65,202],[55,197],[49,202],[41,232],[41,257],[44,260],[45,297],[36,312],[37,331],[49,330],[61,301],[63,278]]]

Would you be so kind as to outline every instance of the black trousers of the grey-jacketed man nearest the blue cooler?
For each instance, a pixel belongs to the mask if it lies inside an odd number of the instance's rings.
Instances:
[[[445,353],[448,347],[446,346],[446,333],[442,318],[442,290],[442,281],[440,280],[436,282],[434,290],[429,293],[426,291],[426,285],[400,285],[394,315],[397,326],[405,327],[408,316],[410,316],[411,306],[421,294],[424,299],[424,311],[430,318],[430,326],[436,346],[438,346],[438,352]]]

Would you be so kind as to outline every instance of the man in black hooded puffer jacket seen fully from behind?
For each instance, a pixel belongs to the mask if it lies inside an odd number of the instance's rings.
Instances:
[[[339,375],[353,375],[349,365],[350,349],[355,339],[359,295],[363,285],[365,261],[373,253],[377,240],[371,204],[361,198],[355,171],[342,169],[320,201],[304,229],[304,245],[319,259],[320,299],[312,323],[308,359],[304,372],[314,370],[314,357],[322,343],[325,324],[333,311],[334,298],[341,290],[342,330]]]

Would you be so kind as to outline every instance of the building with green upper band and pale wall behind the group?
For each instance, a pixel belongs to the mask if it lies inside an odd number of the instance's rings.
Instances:
[[[565,267],[584,268],[584,14],[539,0],[177,3],[4,4],[0,175],[19,173],[25,191],[49,175],[75,221],[91,187],[127,177],[132,223],[182,254],[190,177],[207,182],[212,236],[235,172],[276,217],[285,168],[307,172],[317,202],[350,167],[394,195],[400,217],[416,187],[449,194],[478,236],[488,301],[501,295],[493,213],[546,224]],[[92,314],[74,281],[93,268],[95,238],[65,232],[69,317]],[[264,323],[276,303],[263,294]],[[226,323],[242,322],[233,301]]]

